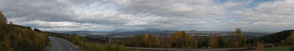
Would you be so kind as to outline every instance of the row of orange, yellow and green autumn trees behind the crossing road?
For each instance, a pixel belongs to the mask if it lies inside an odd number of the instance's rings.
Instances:
[[[204,38],[197,35],[189,35],[185,31],[177,31],[168,36],[155,35],[135,35],[132,38],[121,38],[118,44],[124,44],[127,47],[153,47],[153,48],[228,48],[228,47],[248,47],[253,40],[247,39],[242,35],[241,29],[236,28],[235,32],[229,36],[210,35]]]

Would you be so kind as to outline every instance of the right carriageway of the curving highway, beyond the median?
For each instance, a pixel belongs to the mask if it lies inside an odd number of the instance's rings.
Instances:
[[[72,46],[69,42],[66,42],[65,40],[62,40],[56,37],[53,37],[53,38],[60,43],[62,51],[79,51],[74,46]]]

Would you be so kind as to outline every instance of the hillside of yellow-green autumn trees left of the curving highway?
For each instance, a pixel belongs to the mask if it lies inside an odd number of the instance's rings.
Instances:
[[[30,27],[7,24],[0,11],[0,51],[43,51],[49,44],[48,33],[31,30]]]

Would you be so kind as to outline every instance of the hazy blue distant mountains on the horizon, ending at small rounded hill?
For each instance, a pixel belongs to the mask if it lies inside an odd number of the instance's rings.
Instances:
[[[79,30],[79,31],[48,31],[54,33],[64,33],[64,34],[89,34],[89,33],[140,33],[140,32],[176,32],[176,30],[160,30],[155,28],[147,28],[145,30],[112,30],[112,31],[87,31],[87,30]],[[189,30],[186,32],[198,32],[197,30]]]

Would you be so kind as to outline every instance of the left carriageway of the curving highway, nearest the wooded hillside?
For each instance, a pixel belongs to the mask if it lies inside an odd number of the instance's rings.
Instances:
[[[50,51],[60,51],[60,46],[56,39],[48,37],[51,41]]]

